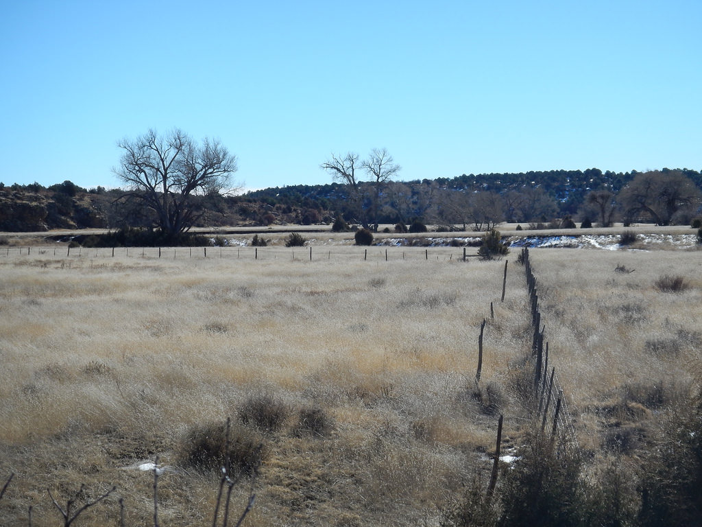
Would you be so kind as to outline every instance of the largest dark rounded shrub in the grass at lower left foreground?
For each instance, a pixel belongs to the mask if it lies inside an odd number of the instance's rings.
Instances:
[[[227,463],[226,426],[209,423],[191,427],[178,446],[180,462],[201,470],[219,471]],[[258,471],[265,451],[260,437],[252,431],[232,426],[229,453],[232,474],[253,476]]]

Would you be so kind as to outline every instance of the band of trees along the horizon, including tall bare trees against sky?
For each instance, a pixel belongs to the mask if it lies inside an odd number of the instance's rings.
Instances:
[[[149,130],[117,143],[114,174],[124,188],[84,189],[71,181],[0,183],[0,230],[143,227],[177,242],[193,226],[332,223],[400,230],[414,222],[489,230],[502,222],[525,226],[686,224],[701,215],[702,174],[691,169],[626,173],[600,169],[461,174],[397,181],[390,152],[373,148],[332,154],[319,168],[326,185],[266,188],[235,195],[237,157],[220,141],[195,141],[180,129]],[[37,195],[27,198],[28,193]]]

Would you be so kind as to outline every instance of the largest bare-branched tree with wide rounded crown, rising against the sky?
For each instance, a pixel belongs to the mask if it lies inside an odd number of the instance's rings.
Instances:
[[[166,240],[187,232],[199,217],[192,197],[232,188],[237,157],[218,140],[200,144],[180,129],[164,135],[150,129],[135,139],[117,143],[124,150],[119,168],[127,199],[139,200],[155,214],[156,226]]]

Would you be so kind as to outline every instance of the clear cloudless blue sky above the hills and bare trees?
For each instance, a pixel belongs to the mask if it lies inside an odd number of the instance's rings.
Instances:
[[[246,188],[702,169],[702,1],[3,1],[0,181],[118,186],[117,141],[220,138]]]

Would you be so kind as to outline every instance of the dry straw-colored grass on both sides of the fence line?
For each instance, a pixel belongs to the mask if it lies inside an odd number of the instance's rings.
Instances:
[[[501,302],[504,261],[460,249],[252,250],[0,255],[0,477],[15,474],[0,525],[27,524],[30,506],[34,526],[57,525],[47,489],[65,503],[81,483],[81,503],[117,491],[76,525],[117,526],[119,497],[127,525],[148,524],[153,475],[137,467],[156,456],[170,467],[161,525],[211,525],[216,460],[194,445],[227,417],[242,473],[263,445],[258,476],[232,495],[238,516],[256,493],[252,527],[438,525],[489,476],[500,413],[503,449],[519,445],[531,327],[516,251]],[[696,386],[700,253],[531,253],[550,365],[592,471],[611,445],[634,458]],[[664,275],[687,287],[661,290]]]

